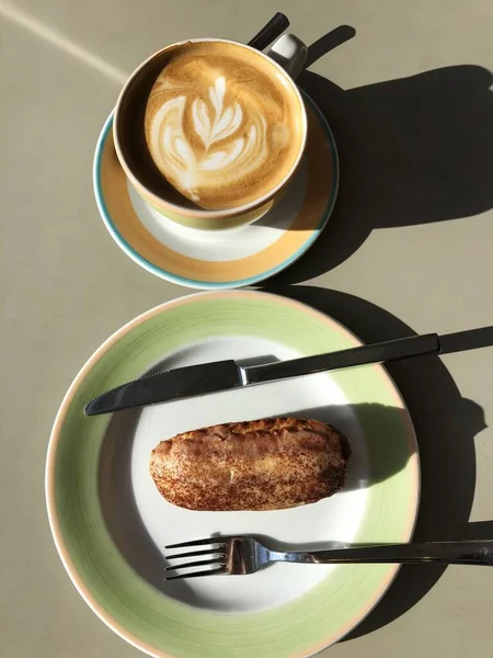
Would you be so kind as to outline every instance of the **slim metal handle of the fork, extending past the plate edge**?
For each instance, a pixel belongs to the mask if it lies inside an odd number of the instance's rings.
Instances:
[[[275,561],[305,564],[442,564],[493,566],[493,540],[471,542],[426,542],[423,544],[383,544],[313,551],[271,552]]]

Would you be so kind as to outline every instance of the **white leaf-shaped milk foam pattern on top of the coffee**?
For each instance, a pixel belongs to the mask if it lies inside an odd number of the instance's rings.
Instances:
[[[154,113],[148,128],[156,164],[196,203],[225,180],[238,183],[268,157],[267,122],[261,107],[249,107],[246,115],[238,100],[228,104],[227,86],[227,79],[218,76],[206,99],[192,93],[171,98]],[[185,129],[187,105],[192,122]]]

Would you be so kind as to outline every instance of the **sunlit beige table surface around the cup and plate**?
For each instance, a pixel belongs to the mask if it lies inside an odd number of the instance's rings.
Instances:
[[[273,285],[298,284],[291,294],[366,340],[493,325],[491,1],[0,0],[1,657],[139,655],[70,583],[43,491],[79,367],[124,322],[187,292],[107,235],[94,143],[150,53],[188,36],[248,39],[279,9],[316,44],[301,83],[333,126],[342,189],[320,243]],[[447,345],[492,343],[484,329]],[[492,347],[392,368],[422,451],[420,538],[493,537],[492,372]],[[492,610],[493,569],[403,569],[324,655],[489,657]]]

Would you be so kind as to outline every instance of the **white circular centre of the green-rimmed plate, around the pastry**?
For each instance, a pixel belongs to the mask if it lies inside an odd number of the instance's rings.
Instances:
[[[160,370],[223,359],[265,363],[298,355],[264,339],[226,337],[190,345],[162,361]],[[313,418],[340,428],[353,450],[344,491],[314,504],[270,512],[195,512],[174,507],[160,496],[149,475],[149,456],[160,441],[191,429],[268,416]],[[287,603],[317,586],[332,569],[344,568],[276,564],[252,576],[163,579],[167,544],[215,534],[255,534],[299,549],[316,549],[355,540],[367,499],[367,453],[357,417],[330,375],[117,413],[106,439],[105,444],[118,447],[108,461],[111,472],[102,466],[101,473],[103,494],[112,492],[102,497],[108,530],[130,565],[165,595],[218,612],[253,612]]]

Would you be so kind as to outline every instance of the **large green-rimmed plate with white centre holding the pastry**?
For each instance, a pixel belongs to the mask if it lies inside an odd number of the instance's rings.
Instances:
[[[163,546],[220,532],[282,542],[405,542],[419,503],[419,457],[405,406],[383,367],[310,375],[249,390],[85,418],[96,394],[152,370],[236,358],[288,359],[359,344],[334,320],[257,292],[205,293],[157,307],[110,338],[76,377],[47,457],[49,522],[81,595],[151,656],[305,657],[336,642],[385,593],[397,567],[275,565],[250,577],[164,582]],[[299,415],[349,438],[345,490],[278,512],[191,512],[148,474],[157,443],[231,420]]]

